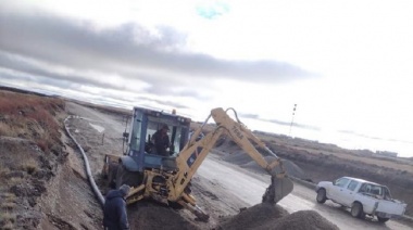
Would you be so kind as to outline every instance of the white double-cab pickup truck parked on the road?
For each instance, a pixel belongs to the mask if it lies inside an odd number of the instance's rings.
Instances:
[[[406,204],[393,200],[387,187],[352,177],[341,177],[333,182],[321,181],[315,188],[316,201],[327,200],[351,208],[353,217],[376,216],[378,221],[404,215]]]

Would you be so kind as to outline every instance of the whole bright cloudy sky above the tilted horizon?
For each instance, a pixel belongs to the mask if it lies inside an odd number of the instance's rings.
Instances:
[[[413,156],[410,0],[0,4],[0,85]]]

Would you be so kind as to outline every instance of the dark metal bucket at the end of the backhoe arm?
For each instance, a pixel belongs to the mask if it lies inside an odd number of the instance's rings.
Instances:
[[[288,177],[271,177],[271,184],[262,196],[263,203],[276,204],[292,191],[293,184]]]

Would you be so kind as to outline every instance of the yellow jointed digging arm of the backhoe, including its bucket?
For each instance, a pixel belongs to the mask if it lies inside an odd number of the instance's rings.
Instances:
[[[173,184],[171,184],[174,189],[171,190],[168,197],[170,201],[178,201],[183,196],[184,190],[188,186],[193,174],[223,135],[227,135],[246,153],[248,153],[252,159],[254,159],[271,175],[272,182],[263,195],[263,202],[277,203],[292,191],[293,184],[286,175],[280,158],[238,119],[235,111],[234,113],[237,120],[229,117],[227,114],[229,110],[234,111],[233,108],[224,111],[221,107],[212,110],[211,115],[206,118],[204,124],[195,131],[187,145],[177,156],[176,163],[178,173],[172,181]],[[216,128],[201,140],[196,141],[202,130],[202,127],[208,123],[211,116],[215,120]],[[265,159],[264,156],[255,149],[254,144],[259,145],[271,156],[273,156],[268,157],[273,158],[273,161],[270,162]]]

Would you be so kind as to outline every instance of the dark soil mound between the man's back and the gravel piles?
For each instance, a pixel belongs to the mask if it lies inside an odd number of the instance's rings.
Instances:
[[[130,229],[199,229],[196,225],[183,218],[177,210],[151,202],[138,202],[136,205],[130,206],[127,212]]]

